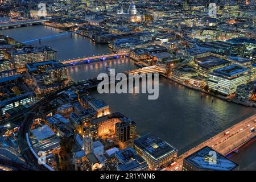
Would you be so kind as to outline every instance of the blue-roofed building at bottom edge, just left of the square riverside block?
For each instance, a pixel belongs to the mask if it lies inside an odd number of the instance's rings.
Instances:
[[[115,152],[117,171],[147,171],[148,165],[137,152],[129,147]]]

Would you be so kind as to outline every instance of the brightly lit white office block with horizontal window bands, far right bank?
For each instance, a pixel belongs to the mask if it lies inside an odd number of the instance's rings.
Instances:
[[[235,93],[238,85],[247,84],[250,81],[251,73],[249,70],[249,68],[237,64],[216,69],[209,73],[209,89],[225,96]]]

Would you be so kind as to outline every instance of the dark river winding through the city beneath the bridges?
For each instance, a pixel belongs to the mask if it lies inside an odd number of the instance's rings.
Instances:
[[[65,32],[52,27],[33,26],[0,31],[19,42],[57,35]],[[51,46],[57,51],[57,59],[73,59],[110,53],[107,45],[96,44],[80,35],[65,35],[33,42],[32,46]],[[136,68],[129,57],[92,64],[68,67],[74,81],[96,77],[106,72],[106,67],[123,72]],[[213,137],[222,130],[246,117],[255,108],[245,107],[185,88],[160,77],[158,100],[147,100],[147,94],[92,94],[104,100],[110,111],[120,111],[137,122],[139,135],[147,133],[166,140],[179,150],[179,154]],[[229,156],[240,164],[240,169],[256,169],[256,143],[244,147],[240,153]]]

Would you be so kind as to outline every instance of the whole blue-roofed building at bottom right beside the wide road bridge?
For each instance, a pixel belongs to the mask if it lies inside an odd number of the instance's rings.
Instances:
[[[183,160],[183,171],[237,171],[238,169],[238,164],[208,146]]]

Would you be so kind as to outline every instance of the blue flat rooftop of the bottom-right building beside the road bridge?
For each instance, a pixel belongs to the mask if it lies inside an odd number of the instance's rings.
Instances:
[[[205,146],[204,148],[201,148],[195,153],[189,155],[184,160],[187,160],[187,162],[193,164],[193,166],[196,166],[197,168],[214,170],[214,171],[232,171],[234,168],[238,166],[238,164],[232,162],[231,160],[226,158],[224,155],[221,155],[216,151],[214,152],[216,152],[217,154],[217,163],[210,164],[209,162],[212,162],[210,161],[211,156],[209,156],[210,151],[214,151],[214,150],[208,146]]]

